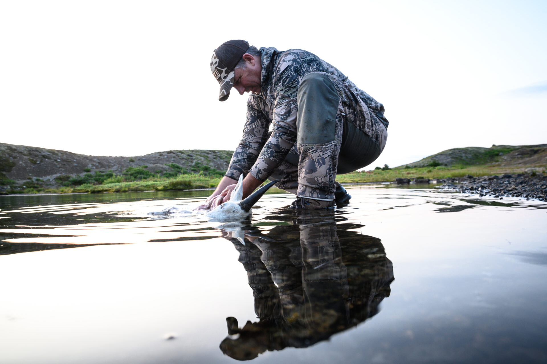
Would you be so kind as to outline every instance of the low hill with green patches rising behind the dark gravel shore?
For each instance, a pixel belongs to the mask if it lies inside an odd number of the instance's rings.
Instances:
[[[547,144],[532,146],[497,146],[490,148],[465,147],[453,148],[430,155],[414,163],[404,164],[396,168],[479,165],[491,164],[499,166],[547,166]]]

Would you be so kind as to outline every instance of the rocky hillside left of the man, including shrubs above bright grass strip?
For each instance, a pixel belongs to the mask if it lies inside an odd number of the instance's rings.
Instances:
[[[116,176],[136,181],[152,175],[165,178],[181,174],[222,175],[228,169],[231,155],[231,151],[190,149],[107,157],[0,143],[0,192],[101,184]]]

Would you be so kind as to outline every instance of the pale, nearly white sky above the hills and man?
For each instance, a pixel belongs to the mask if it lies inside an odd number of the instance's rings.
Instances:
[[[547,143],[547,2],[0,0],[0,142],[93,155],[235,149],[229,39],[309,50],[383,103],[373,165]],[[224,27],[224,28],[223,28]]]

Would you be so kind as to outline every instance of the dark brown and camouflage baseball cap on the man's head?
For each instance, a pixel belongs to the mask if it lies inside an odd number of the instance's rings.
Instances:
[[[249,42],[234,39],[220,44],[220,47],[213,51],[211,72],[220,84],[218,101],[225,101],[230,96],[230,89],[234,85],[234,68],[248,48]]]

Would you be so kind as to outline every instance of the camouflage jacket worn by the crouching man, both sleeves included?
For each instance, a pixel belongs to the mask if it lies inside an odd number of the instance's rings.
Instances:
[[[323,72],[333,82],[340,96],[338,116],[368,135],[377,134],[371,131],[379,123],[387,129],[389,122],[383,116],[383,105],[315,54],[301,49],[278,51],[264,47],[260,53],[261,94],[249,96],[243,137],[226,176],[237,180],[240,174],[251,173],[259,181],[265,181],[282,163],[296,142],[296,95],[302,77],[310,72]]]

